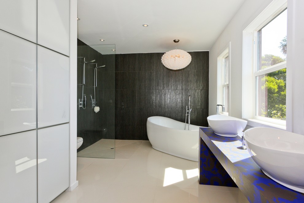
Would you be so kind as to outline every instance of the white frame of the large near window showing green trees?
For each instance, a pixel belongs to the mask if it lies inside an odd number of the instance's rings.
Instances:
[[[286,129],[286,121],[255,115],[256,82],[255,77],[286,67],[286,62],[276,64],[257,71],[257,32],[280,14],[287,7],[287,0],[274,0],[247,28],[243,31],[243,118],[248,125],[269,126]],[[287,98],[286,98],[287,100]]]

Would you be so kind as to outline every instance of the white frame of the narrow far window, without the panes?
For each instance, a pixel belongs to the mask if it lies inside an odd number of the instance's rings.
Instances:
[[[220,114],[224,114],[228,116],[228,108],[229,104],[230,104],[230,88],[229,88],[229,84],[230,84],[230,64],[231,64],[231,54],[229,52],[230,50],[230,42],[227,46],[225,46],[225,49],[222,50],[220,53],[220,55],[217,58],[217,104],[224,104],[224,96],[223,96],[223,88],[228,86],[228,106],[225,106],[225,111],[219,111]],[[224,62],[223,60],[225,58],[227,58],[228,56],[228,84],[223,84],[224,83]],[[219,109],[222,110],[222,109]]]

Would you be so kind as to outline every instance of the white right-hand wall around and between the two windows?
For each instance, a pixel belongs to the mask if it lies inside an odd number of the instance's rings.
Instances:
[[[216,113],[217,90],[217,57],[231,42],[230,51],[230,108],[229,116],[242,118],[242,58],[243,58],[243,30],[272,2],[272,0],[247,0],[237,11],[228,26],[220,34],[209,51],[209,115]],[[304,45],[304,1],[288,0],[288,55],[287,80],[287,130],[304,134],[304,70],[302,65],[302,47]],[[289,96],[289,95],[288,95]],[[288,97],[287,96],[287,97]],[[295,107],[295,108],[293,108]]]

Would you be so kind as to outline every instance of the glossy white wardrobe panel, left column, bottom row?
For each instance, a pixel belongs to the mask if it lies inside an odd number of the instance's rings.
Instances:
[[[37,131],[0,137],[0,160],[0,202],[37,202]]]

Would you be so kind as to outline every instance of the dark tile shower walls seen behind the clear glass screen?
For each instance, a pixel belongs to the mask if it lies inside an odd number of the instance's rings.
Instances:
[[[95,87],[96,105],[100,111],[92,109],[91,95],[94,99],[95,64],[85,64],[84,94],[87,98],[86,109],[77,109],[77,137],[84,142],[78,151],[92,145],[102,138],[115,139],[115,54],[102,55],[80,40],[77,41],[77,57],[85,57],[85,61],[96,60],[97,87]],[[84,58],[77,58],[77,103],[82,98]]]

